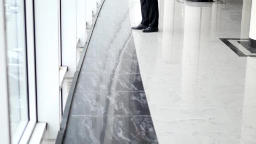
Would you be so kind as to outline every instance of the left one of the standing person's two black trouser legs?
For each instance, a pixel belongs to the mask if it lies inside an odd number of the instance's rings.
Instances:
[[[144,26],[149,26],[149,9],[148,9],[148,0],[141,0],[141,24]]]

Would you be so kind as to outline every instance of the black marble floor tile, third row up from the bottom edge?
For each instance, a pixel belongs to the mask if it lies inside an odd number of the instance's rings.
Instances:
[[[80,74],[76,91],[144,91],[140,74]]]

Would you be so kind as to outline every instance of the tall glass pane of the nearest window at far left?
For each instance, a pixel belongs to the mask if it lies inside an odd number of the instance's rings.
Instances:
[[[19,141],[28,123],[24,0],[5,0],[11,139]]]

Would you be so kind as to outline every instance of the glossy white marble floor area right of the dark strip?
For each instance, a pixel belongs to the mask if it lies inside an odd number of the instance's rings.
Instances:
[[[159,143],[256,144],[256,58],[219,39],[248,39],[251,0],[158,1],[160,32],[133,37]]]

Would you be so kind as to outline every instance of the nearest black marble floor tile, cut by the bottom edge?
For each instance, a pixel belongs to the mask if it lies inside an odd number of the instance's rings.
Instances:
[[[69,117],[64,144],[158,144],[151,117]],[[69,137],[71,136],[71,137]]]

